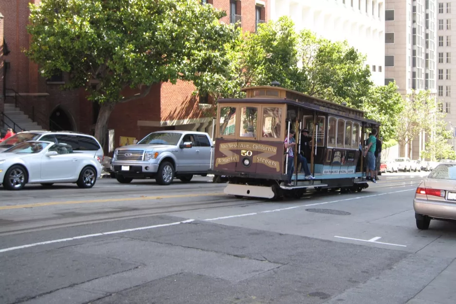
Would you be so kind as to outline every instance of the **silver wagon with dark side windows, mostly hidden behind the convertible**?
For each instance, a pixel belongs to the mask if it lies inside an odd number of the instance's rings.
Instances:
[[[103,162],[104,152],[95,137],[70,131],[24,131],[19,132],[0,143],[0,152],[11,148],[18,143],[28,141],[43,141],[69,144],[74,152],[96,155],[98,161]]]

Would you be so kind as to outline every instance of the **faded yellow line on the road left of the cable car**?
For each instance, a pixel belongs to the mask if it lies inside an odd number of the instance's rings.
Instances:
[[[48,203],[36,203],[16,206],[1,206],[0,210],[8,209],[20,209],[30,207],[44,207],[53,205],[70,205],[70,204],[88,204],[88,203],[106,203],[115,201],[130,201],[130,200],[147,200],[147,199],[163,199],[163,198],[179,198],[179,197],[210,197],[219,196],[224,193],[206,193],[206,194],[181,194],[181,195],[168,195],[168,196],[156,196],[156,197],[128,197],[128,198],[106,198],[106,199],[92,199],[92,200],[70,200],[63,202],[48,202]]]

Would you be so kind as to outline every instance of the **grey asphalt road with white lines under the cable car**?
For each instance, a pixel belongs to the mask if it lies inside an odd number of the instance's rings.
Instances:
[[[210,178],[0,190],[0,303],[456,302],[456,224],[415,226],[425,173],[236,199]]]

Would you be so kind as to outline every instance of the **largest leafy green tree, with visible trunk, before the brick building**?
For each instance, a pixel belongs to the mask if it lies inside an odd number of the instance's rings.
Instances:
[[[42,0],[30,6],[30,59],[42,75],[69,72],[66,89],[85,87],[100,104],[95,136],[104,143],[117,103],[153,84],[216,72],[236,32],[224,12],[198,0]],[[136,94],[123,96],[126,88]]]

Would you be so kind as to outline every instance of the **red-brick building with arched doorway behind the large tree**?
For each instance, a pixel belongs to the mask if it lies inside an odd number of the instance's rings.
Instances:
[[[30,0],[37,3],[40,0]],[[0,114],[3,102],[15,104],[5,107],[5,116],[0,115],[6,125],[11,120],[19,119],[20,111],[33,121],[25,122],[21,116],[19,124],[25,129],[70,129],[93,134],[98,106],[85,98],[80,90],[62,91],[59,85],[65,82],[67,75],[56,75],[44,79],[39,75],[38,67],[23,54],[29,45],[26,31],[28,22],[28,2],[1,0],[0,13]],[[255,32],[256,26],[264,22],[267,16],[267,0],[201,0],[215,8],[227,12],[221,22],[236,23],[244,31]],[[2,32],[3,28],[3,32]],[[4,39],[2,38],[4,33]],[[211,133],[214,107],[207,97],[192,96],[194,87],[183,81],[176,85],[161,83],[153,87],[144,98],[125,104],[119,104],[113,110],[108,129],[114,129],[115,146],[119,137],[142,138],[151,131],[159,129],[186,129]],[[8,115],[10,113],[10,115]],[[10,119],[11,118],[11,119]],[[18,123],[18,122],[17,122]]]

